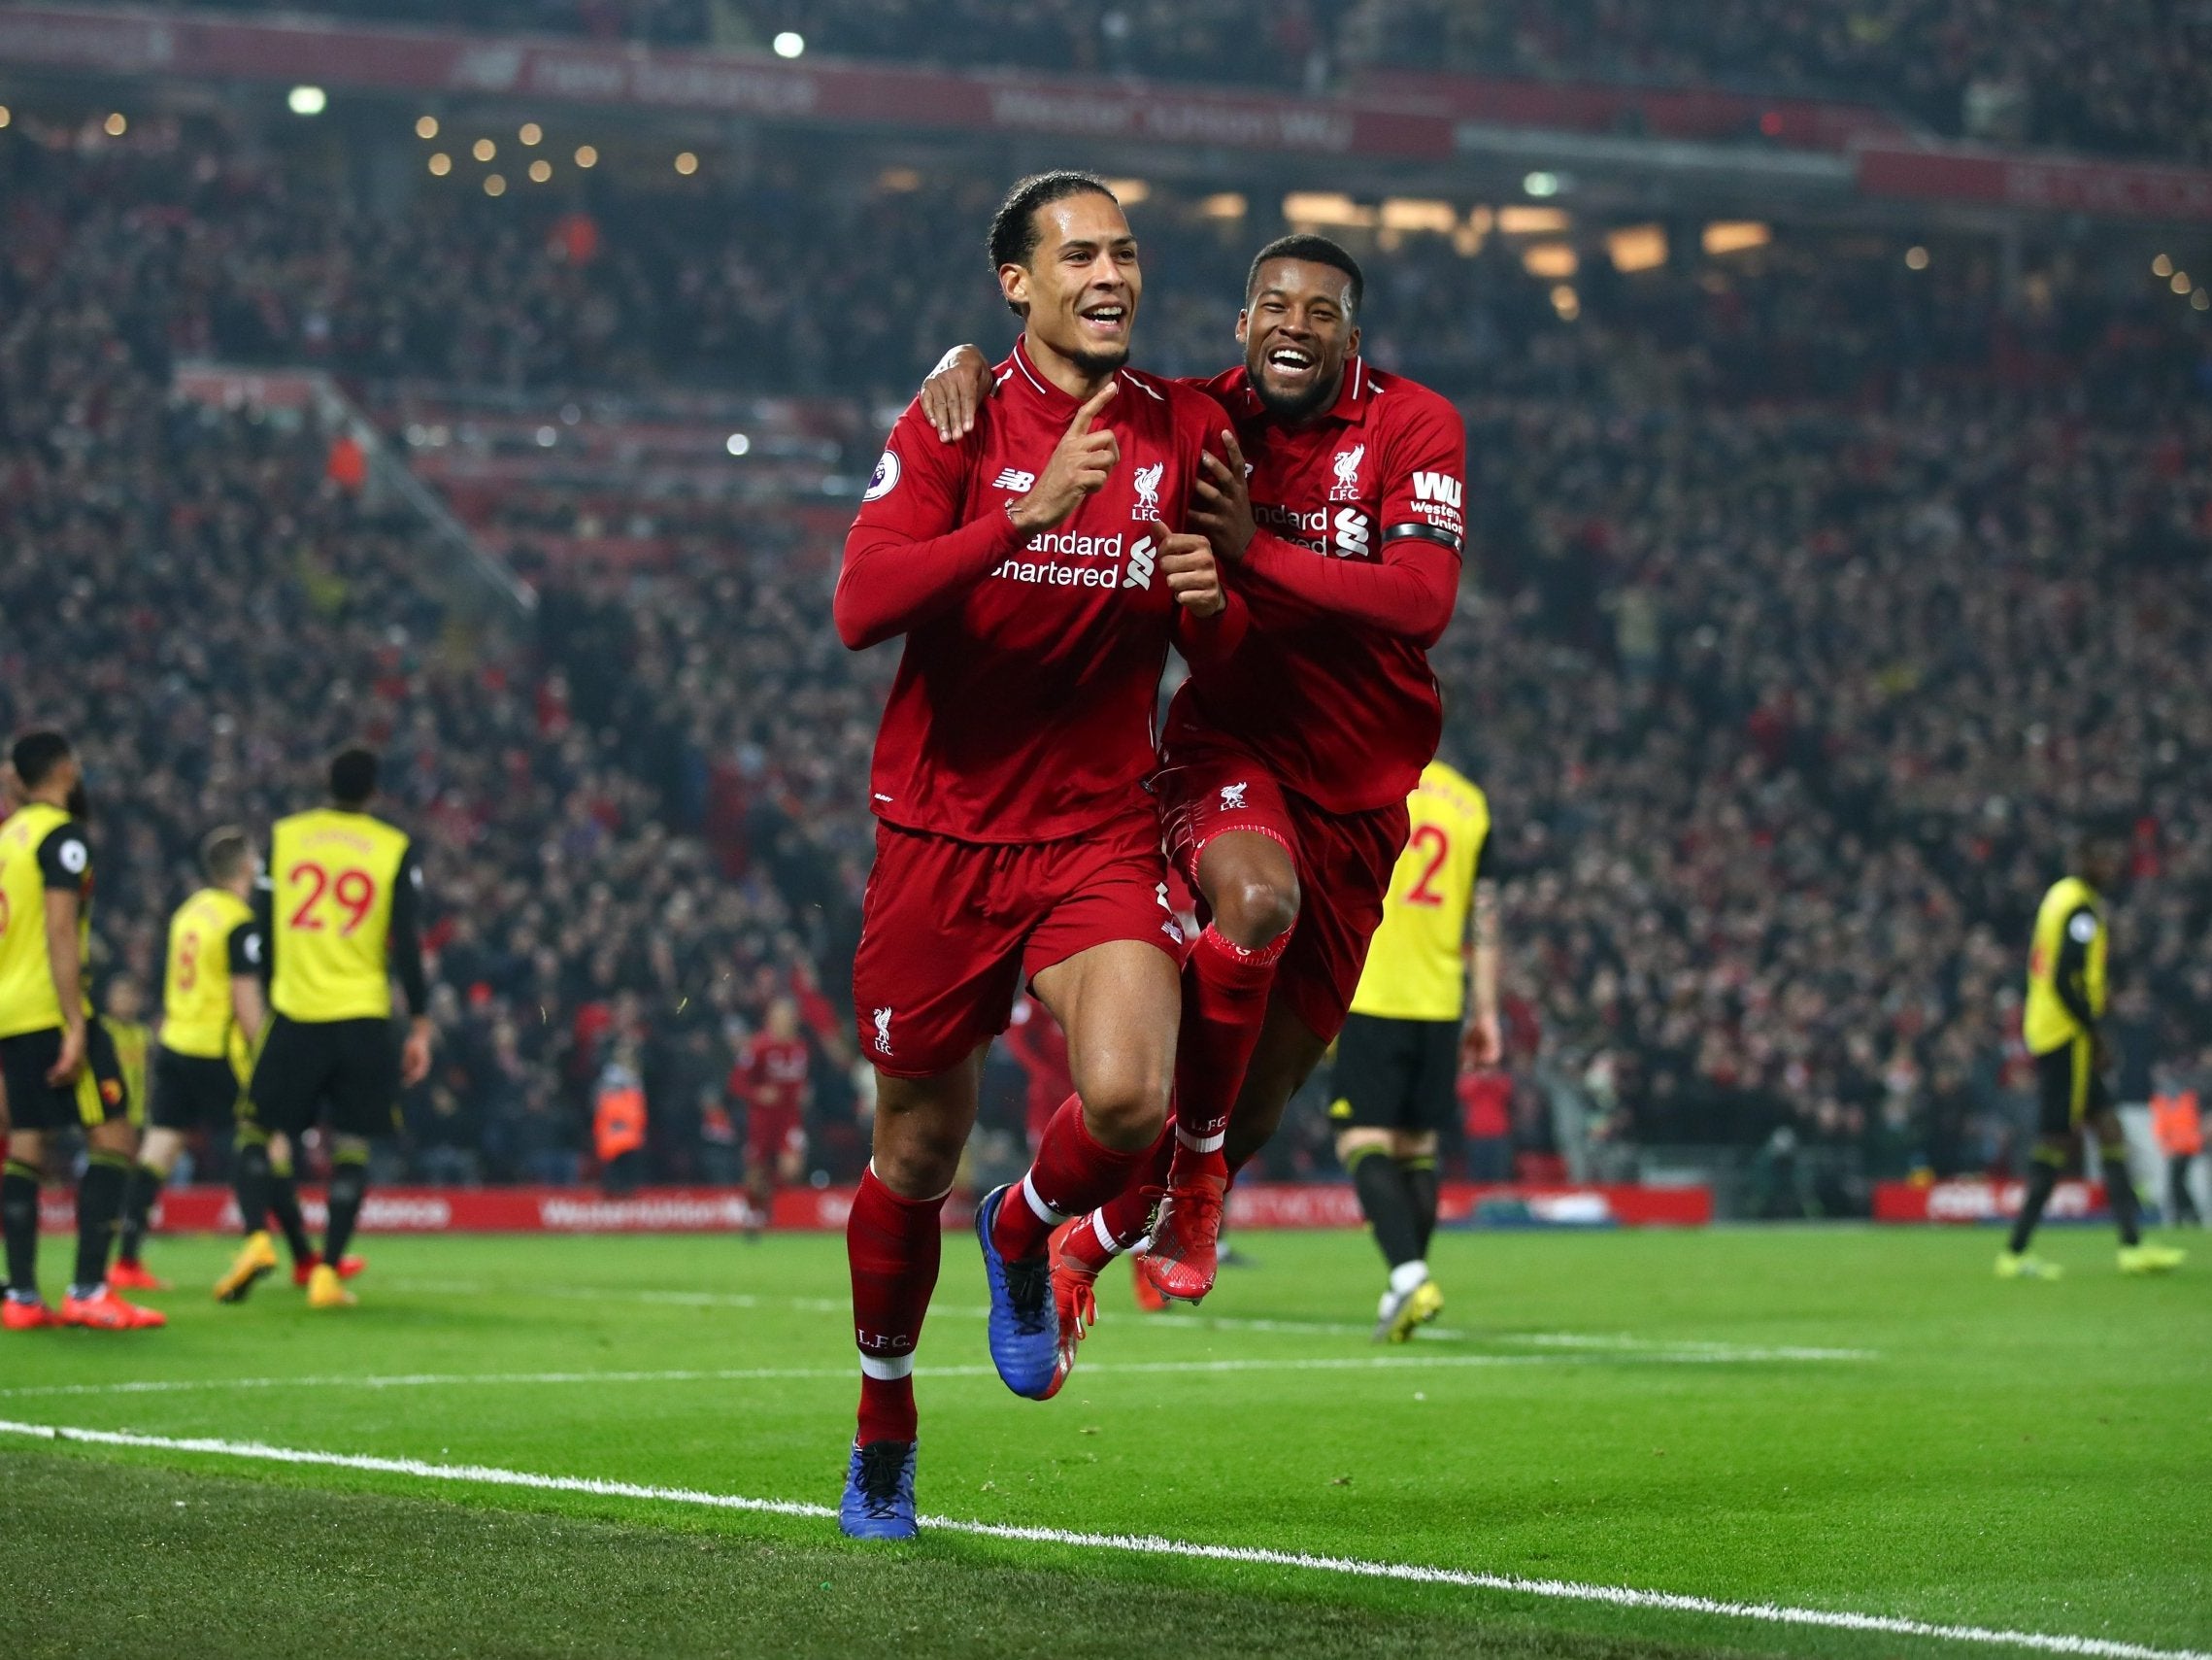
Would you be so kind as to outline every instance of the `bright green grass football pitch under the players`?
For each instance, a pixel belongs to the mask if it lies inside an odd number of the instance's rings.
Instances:
[[[1590,1600],[1606,1587],[2212,1651],[2212,1262],[2053,1231],[1447,1235],[1449,1306],[1367,1337],[1349,1233],[1248,1233],[1203,1310],[1128,1279],[1053,1403],[989,1370],[953,1235],[920,1348],[925,1514],[1553,1580],[834,1523],[0,1432],[0,1653],[2024,1653]],[[830,1505],[856,1394],[836,1237],[367,1239],[363,1306],[206,1284],[164,1332],[0,1337],[0,1421]],[[62,1270],[49,1242],[49,1273]],[[622,1379],[608,1374],[624,1374]],[[2046,1647],[2048,1651],[2048,1647]]]

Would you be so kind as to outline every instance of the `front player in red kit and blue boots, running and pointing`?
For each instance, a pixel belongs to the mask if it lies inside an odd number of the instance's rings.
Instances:
[[[1018,1394],[1060,1379],[1051,1228],[1121,1193],[1164,1144],[1183,934],[1168,907],[1152,708],[1170,640],[1239,626],[1188,516],[1203,392],[1126,367],[1141,274],[1113,193],[1024,179],[991,226],[1022,336],[967,438],[920,403],[891,429],[845,540],[836,626],[905,635],[876,737],[876,865],[854,961],[878,1073],[874,1158],[847,1222],[860,1412],[847,1534],[914,1534],[914,1343],[982,1058],[1026,981],[1068,1036],[1075,1093],[975,1233],[991,1359]]]

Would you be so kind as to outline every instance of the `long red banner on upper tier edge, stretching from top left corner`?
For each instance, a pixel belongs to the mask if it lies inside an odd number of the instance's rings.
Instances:
[[[781,122],[1062,133],[1321,155],[1451,155],[1449,117],[1376,104],[303,20],[7,9],[0,11],[0,64],[626,104]]]

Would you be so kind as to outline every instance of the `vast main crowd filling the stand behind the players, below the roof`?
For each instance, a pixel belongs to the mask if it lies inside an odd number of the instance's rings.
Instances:
[[[889,660],[830,631],[821,511],[695,511],[622,569],[520,536],[533,635],[478,637],[323,436],[166,381],[192,354],[498,385],[743,365],[896,401],[1004,319],[889,252],[914,237],[849,232],[942,239],[995,186],[823,212],[785,179],[703,230],[606,199],[580,261],[580,206],[385,219],[208,135],[9,142],[0,170],[0,722],[86,739],[104,972],[157,974],[206,826],[265,823],[365,733],[431,850],[418,1166],[573,1175],[593,1080],[637,1065],[655,1171],[703,1171],[721,1080],[790,992],[845,1173],[856,779]],[[1144,356],[1219,367],[1241,241],[1159,217]],[[1447,755],[1500,817],[1517,1051],[1542,1031],[1601,1140],[2006,1164],[2020,938],[2081,812],[2137,823],[2119,961],[2159,1051],[2212,1045],[2199,314],[2062,259],[2000,303],[1964,255],[1785,243],[1593,261],[1573,321],[1504,239],[1409,243],[1374,279],[1378,361],[1469,412],[1475,558],[1438,664]],[[1528,1111],[1520,1140],[1546,1140]],[[1325,1158],[1290,1147],[1290,1171]]]

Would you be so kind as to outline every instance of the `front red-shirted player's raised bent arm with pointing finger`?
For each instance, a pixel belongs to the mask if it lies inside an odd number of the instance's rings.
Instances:
[[[898,456],[916,447],[911,429],[907,445],[894,432],[885,452],[891,483],[860,509],[845,536],[845,567],[832,602],[838,640],[863,651],[949,611],[991,567],[1026,547],[1031,536],[1062,525],[1084,498],[1095,496],[1119,465],[1121,445],[1113,432],[1093,432],[1091,423],[1117,390],[1108,381],[1075,412],[1026,496],[1006,502],[1004,513],[984,513],[958,529],[949,529],[960,509],[953,474],[936,454],[916,465],[914,496],[891,505],[902,487],[905,463]],[[909,427],[909,421],[911,412],[900,427]]]

